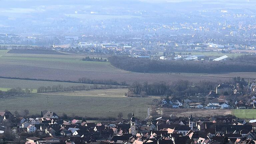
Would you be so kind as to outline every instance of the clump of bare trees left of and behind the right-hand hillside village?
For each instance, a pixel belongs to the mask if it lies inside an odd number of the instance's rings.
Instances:
[[[152,84],[149,84],[148,82],[134,82],[129,86],[126,96],[146,97],[149,95],[158,95],[187,97],[199,93],[207,94],[210,90],[214,90],[217,85],[218,83],[215,82],[201,81],[199,83],[191,83],[187,80],[175,81],[171,85],[164,82]]]

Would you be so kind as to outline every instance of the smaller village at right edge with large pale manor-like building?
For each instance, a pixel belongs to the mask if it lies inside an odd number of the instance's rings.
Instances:
[[[256,109],[255,91],[256,84],[250,83],[250,80],[248,85],[220,83],[215,91],[211,90],[206,96],[196,94],[185,99],[166,97],[161,101],[154,99],[152,104],[159,108]]]

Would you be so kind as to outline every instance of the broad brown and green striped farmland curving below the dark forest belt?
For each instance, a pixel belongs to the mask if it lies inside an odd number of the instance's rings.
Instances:
[[[237,76],[248,78],[249,75],[251,78],[256,78],[256,73],[136,73],[117,69],[109,62],[82,61],[81,59],[84,57],[85,55],[81,54],[5,53],[0,57],[0,76],[71,81],[76,81],[81,77],[87,77],[99,80],[112,79],[118,82],[126,81],[127,83],[134,81],[164,81],[168,84],[178,80],[225,82]]]

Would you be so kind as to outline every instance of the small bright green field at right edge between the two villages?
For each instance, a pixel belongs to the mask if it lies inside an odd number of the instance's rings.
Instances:
[[[256,119],[256,109],[234,109],[232,114],[238,118]]]

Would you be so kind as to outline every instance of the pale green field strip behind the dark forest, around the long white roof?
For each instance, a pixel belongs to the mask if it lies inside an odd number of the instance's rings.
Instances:
[[[191,53],[192,55],[205,55],[205,56],[212,56],[212,57],[221,57],[221,56],[228,56],[231,58],[235,58],[241,55],[244,55],[243,53],[218,53],[218,52],[175,52],[175,54],[179,54],[182,53],[184,54],[188,54]]]

